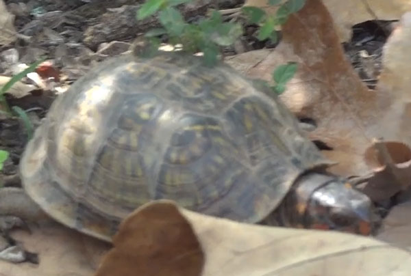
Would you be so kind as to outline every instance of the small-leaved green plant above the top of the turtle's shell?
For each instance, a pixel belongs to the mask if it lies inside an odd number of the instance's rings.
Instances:
[[[224,22],[221,13],[214,10],[209,18],[201,19],[196,23],[186,23],[182,14],[175,8],[177,5],[192,0],[147,0],[137,12],[137,19],[158,13],[162,28],[155,28],[145,33],[149,40],[149,53],[156,51],[160,44],[159,36],[167,35],[170,44],[182,44],[183,51],[195,53],[203,52],[204,61],[208,66],[216,64],[219,59],[221,46],[229,46],[242,35],[240,23]],[[258,40],[270,39],[277,41],[275,27],[286,22],[288,16],[303,8],[306,0],[268,0],[269,5],[280,5],[275,15],[268,15],[264,10],[247,6],[242,7],[242,14],[250,23],[260,27]],[[153,50],[154,49],[154,50]],[[297,64],[288,63],[276,68],[273,72],[274,92],[284,92],[286,83],[297,70]]]

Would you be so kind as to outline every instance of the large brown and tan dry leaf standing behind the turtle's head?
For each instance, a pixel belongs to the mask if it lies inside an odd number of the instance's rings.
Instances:
[[[402,33],[396,30],[387,42],[384,61],[397,60],[400,70],[384,68],[377,91],[367,89],[346,60],[332,17],[319,0],[308,0],[302,10],[290,16],[283,27],[283,40],[274,51],[244,53],[227,59],[227,63],[249,77],[271,81],[277,66],[297,62],[297,74],[282,100],[297,116],[316,121],[317,128],[309,135],[333,149],[323,151],[338,162],[331,171],[358,176],[371,170],[364,152],[374,137],[407,145],[411,142],[411,125],[406,124],[411,115],[410,94],[405,89],[408,83],[401,80],[396,84],[396,79],[409,79],[403,76],[411,71],[407,61],[411,55],[401,59],[406,49],[397,49],[406,48],[399,46],[404,41],[410,43],[405,35],[411,31],[404,26],[399,29]]]

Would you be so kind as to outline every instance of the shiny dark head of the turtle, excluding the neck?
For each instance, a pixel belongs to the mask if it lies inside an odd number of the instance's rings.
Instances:
[[[368,236],[374,230],[371,199],[350,184],[332,180],[312,193],[306,210],[308,227]]]

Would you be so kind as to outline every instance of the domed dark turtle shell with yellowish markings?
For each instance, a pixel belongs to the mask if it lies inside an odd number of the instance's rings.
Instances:
[[[53,103],[23,154],[23,187],[55,220],[105,240],[150,199],[256,223],[327,163],[261,91],[198,57],[105,61]]]

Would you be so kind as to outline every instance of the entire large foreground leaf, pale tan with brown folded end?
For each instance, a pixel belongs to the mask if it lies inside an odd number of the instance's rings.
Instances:
[[[160,200],[123,221],[95,276],[405,276],[410,261],[409,251],[373,238],[237,223]],[[138,264],[151,267],[151,273],[142,273]]]

